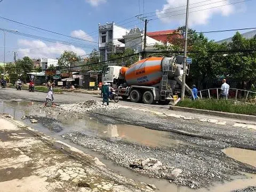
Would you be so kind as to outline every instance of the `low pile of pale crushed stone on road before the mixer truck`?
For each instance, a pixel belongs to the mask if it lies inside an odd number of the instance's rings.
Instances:
[[[74,104],[63,104],[58,106],[58,108],[68,112],[83,113],[83,112],[91,111],[95,109],[113,110],[113,109],[121,108],[121,106],[116,103],[109,103],[109,106],[106,106],[106,105],[102,105],[102,102],[91,99],[88,101],[78,102]]]

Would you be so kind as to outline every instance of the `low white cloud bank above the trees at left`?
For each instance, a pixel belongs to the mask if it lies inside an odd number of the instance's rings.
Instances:
[[[18,45],[24,47],[18,50],[20,57],[57,58],[65,50],[74,51],[77,55],[86,54],[83,49],[74,45],[63,45],[58,42],[47,45],[40,40],[28,41],[27,39],[19,39]]]

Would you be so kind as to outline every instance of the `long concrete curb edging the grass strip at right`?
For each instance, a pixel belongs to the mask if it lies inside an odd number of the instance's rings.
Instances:
[[[177,106],[170,106],[170,110],[204,114],[204,115],[213,115],[213,116],[227,117],[227,118],[236,118],[236,119],[256,122],[256,116],[254,115],[233,114],[233,113],[225,113],[220,111],[211,111],[211,110],[205,110],[205,109],[195,109],[195,108],[177,107]]]

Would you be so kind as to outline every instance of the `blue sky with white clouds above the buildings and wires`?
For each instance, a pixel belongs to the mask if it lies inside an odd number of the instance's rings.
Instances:
[[[197,31],[256,27],[253,24],[255,0],[222,6],[240,1],[242,0],[191,0],[190,27]],[[81,36],[82,34],[83,38],[97,42],[98,23],[111,21],[118,23],[139,13],[142,14],[143,10],[145,10],[144,13],[159,10],[158,15],[156,13],[146,14],[151,16],[148,19],[155,18],[148,23],[148,31],[175,29],[185,22],[183,14],[185,7],[182,7],[185,2],[185,0],[144,0],[143,9],[143,0],[4,0],[0,3],[0,16],[66,35],[79,36],[80,34]],[[219,7],[211,9],[215,6]],[[167,18],[168,15],[172,16]],[[161,18],[163,16],[165,18]],[[133,18],[120,22],[119,25],[131,29],[135,26],[141,27],[143,23],[141,25],[138,19]],[[19,58],[26,54],[30,57],[58,57],[65,49],[83,55],[89,53],[93,47],[97,47],[97,44],[94,43],[31,29],[3,19],[0,19],[0,26],[4,29],[19,30],[20,33],[43,36],[56,41],[68,41],[82,46],[62,46],[59,43],[49,43],[6,33],[6,61],[13,60],[12,51],[18,51]],[[207,36],[220,40],[232,36],[234,33],[235,31],[207,34]],[[3,33],[1,31],[0,61],[3,61]]]

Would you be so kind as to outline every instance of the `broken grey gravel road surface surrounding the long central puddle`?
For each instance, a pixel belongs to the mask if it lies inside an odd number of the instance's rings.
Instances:
[[[111,105],[115,104],[111,102]],[[45,123],[46,127],[50,127],[54,121],[62,123],[65,118],[88,119],[91,117],[93,121],[106,126],[128,124],[167,132],[166,140],[181,141],[170,146],[154,147],[147,145],[146,142],[141,144],[126,141],[121,135],[114,138],[92,136],[80,130],[76,131],[76,129],[59,132],[65,139],[98,151],[116,164],[149,177],[167,179],[177,185],[196,189],[209,187],[215,182],[231,181],[237,175],[243,175],[242,172],[256,172],[255,167],[229,158],[221,151],[229,147],[256,150],[255,130],[198,122],[195,119],[186,121],[132,108],[123,108],[122,103],[118,103],[119,105],[121,107],[115,106],[113,109],[81,110],[82,113],[79,113],[79,110],[74,113],[61,105],[57,108],[42,108],[42,105],[34,105],[33,108],[45,111],[47,117],[37,116],[35,118],[38,123]],[[134,131],[134,134],[143,133]],[[156,169],[141,168],[141,161],[148,158],[157,159],[162,166]],[[133,166],[134,164],[139,166]],[[246,187],[243,191],[247,191]]]

